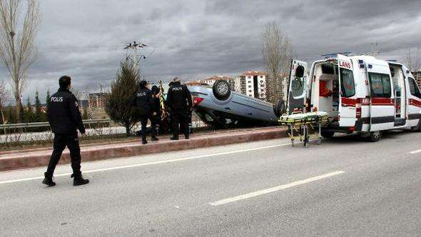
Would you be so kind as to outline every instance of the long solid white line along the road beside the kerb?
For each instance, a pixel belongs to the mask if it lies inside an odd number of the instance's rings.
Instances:
[[[223,156],[223,155],[228,155],[228,154],[233,154],[233,153],[258,151],[258,150],[275,148],[275,147],[279,147],[279,146],[288,146],[288,145],[290,145],[290,143],[284,143],[284,144],[272,145],[272,146],[263,146],[263,147],[257,147],[257,148],[248,148],[248,149],[237,150],[237,151],[226,151],[226,152],[213,153],[213,154],[207,154],[207,155],[201,155],[201,156],[191,156],[191,157],[186,157],[186,158],[176,158],[176,159],[171,159],[171,160],[166,160],[166,161],[155,161],[155,162],[149,162],[149,163],[135,163],[135,164],[132,164],[132,165],[114,166],[114,167],[110,167],[110,168],[98,168],[98,169],[93,169],[93,170],[88,170],[88,171],[82,171],[82,173],[96,173],[96,172],[102,172],[102,171],[113,171],[113,170],[117,170],[117,169],[121,169],[121,168],[133,168],[133,167],[139,167],[139,166],[157,165],[157,164],[161,164],[161,163],[173,163],[173,162],[178,162],[178,161],[188,161],[188,160],[193,160],[193,159],[196,159],[196,158],[206,158],[206,157],[211,157],[211,156]],[[54,177],[70,176],[70,175],[71,175],[71,173],[60,173],[60,174],[54,175]],[[23,181],[32,181],[32,180],[37,180],[37,179],[42,179],[42,178],[44,178],[44,176],[38,176],[38,177],[32,177],[32,178],[21,178],[21,179],[14,179],[14,180],[10,180],[10,181],[0,181],[0,184],[17,183],[17,182],[23,182]]]

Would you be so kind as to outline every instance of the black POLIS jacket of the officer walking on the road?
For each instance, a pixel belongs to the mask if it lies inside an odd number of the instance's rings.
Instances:
[[[85,133],[78,100],[67,89],[59,89],[49,98],[48,119],[53,133],[73,134],[78,129]]]

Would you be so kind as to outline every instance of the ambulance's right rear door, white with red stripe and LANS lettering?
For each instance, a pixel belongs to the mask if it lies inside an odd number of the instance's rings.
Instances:
[[[357,98],[352,60],[348,56],[338,54],[339,78],[339,126],[352,127],[357,121]]]

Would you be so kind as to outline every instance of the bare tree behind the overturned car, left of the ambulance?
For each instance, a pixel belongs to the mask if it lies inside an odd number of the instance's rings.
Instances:
[[[263,31],[263,63],[269,74],[266,83],[268,100],[276,102],[285,98],[285,73],[289,69],[293,46],[285,32],[275,21],[268,23]]]

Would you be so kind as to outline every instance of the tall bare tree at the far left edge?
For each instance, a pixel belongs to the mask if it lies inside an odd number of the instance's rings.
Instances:
[[[25,8],[21,17],[20,11]],[[36,59],[35,36],[39,28],[38,0],[0,1],[0,59],[11,76],[11,86],[16,100],[16,118],[21,121],[21,94],[26,76]]]

